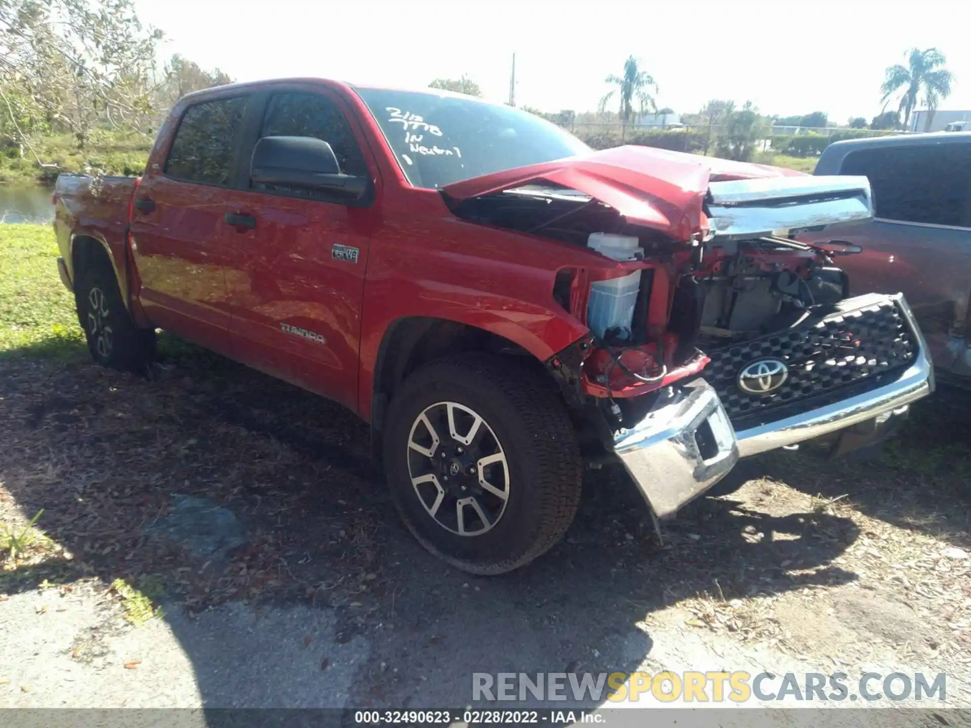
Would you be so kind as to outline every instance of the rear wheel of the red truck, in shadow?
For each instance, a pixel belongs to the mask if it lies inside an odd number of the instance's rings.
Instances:
[[[131,319],[107,255],[95,250],[78,261],[74,291],[91,358],[104,367],[145,372],[155,356],[155,330],[139,328]],[[92,320],[98,322],[100,331],[93,330]]]

